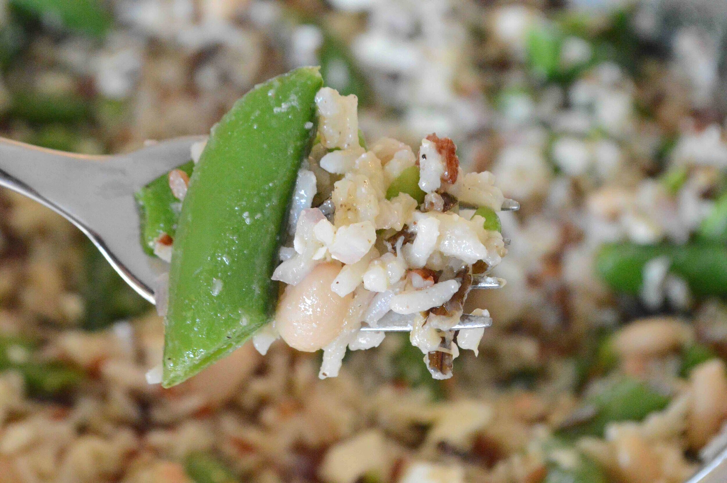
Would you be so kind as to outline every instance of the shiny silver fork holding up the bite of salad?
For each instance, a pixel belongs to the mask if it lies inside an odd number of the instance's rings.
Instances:
[[[133,153],[92,156],[0,138],[0,186],[36,200],[76,225],[126,283],[154,304],[156,280],[166,267],[142,249],[134,193],[189,161],[191,145],[201,139],[204,137],[180,137]],[[514,200],[505,200],[502,206],[504,211],[518,208]],[[501,288],[504,283],[496,277],[475,275],[472,288]],[[491,322],[489,317],[465,314],[454,329],[489,327]],[[370,330],[403,331],[411,330],[411,325]]]

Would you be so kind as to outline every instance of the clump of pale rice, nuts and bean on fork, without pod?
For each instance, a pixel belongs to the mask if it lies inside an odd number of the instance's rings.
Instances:
[[[451,377],[459,348],[476,353],[483,335],[459,330],[455,342],[450,330],[473,270],[491,269],[507,252],[500,232],[459,203],[497,212],[502,191],[489,172],[463,174],[449,138],[430,134],[418,155],[388,138],[367,150],[359,145],[356,96],[324,87],[316,106],[318,142],[298,175],[289,242],[273,274],[286,288],[275,322],[254,344],[266,352],[281,337],[301,350],[323,349],[319,377],[326,378],[337,376],[347,347],[381,344],[385,333],[361,331],[362,324],[409,322],[411,344],[433,377]],[[406,192],[387,196],[412,166],[419,166],[425,202]]]

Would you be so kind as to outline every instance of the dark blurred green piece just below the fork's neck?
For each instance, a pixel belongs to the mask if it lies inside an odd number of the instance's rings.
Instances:
[[[84,241],[85,279],[81,287],[85,315],[82,326],[98,330],[113,322],[147,312],[148,301],[124,282],[89,240]]]

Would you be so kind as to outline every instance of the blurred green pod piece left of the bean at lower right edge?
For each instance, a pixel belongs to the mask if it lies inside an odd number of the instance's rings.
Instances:
[[[608,423],[617,421],[641,421],[654,411],[664,409],[670,398],[633,378],[623,377],[587,397],[585,405],[561,425],[558,436],[603,437]]]

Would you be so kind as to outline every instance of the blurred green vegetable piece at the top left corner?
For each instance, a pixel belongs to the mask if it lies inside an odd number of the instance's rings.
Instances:
[[[100,37],[111,28],[111,15],[100,0],[10,0],[21,15],[68,31]]]

